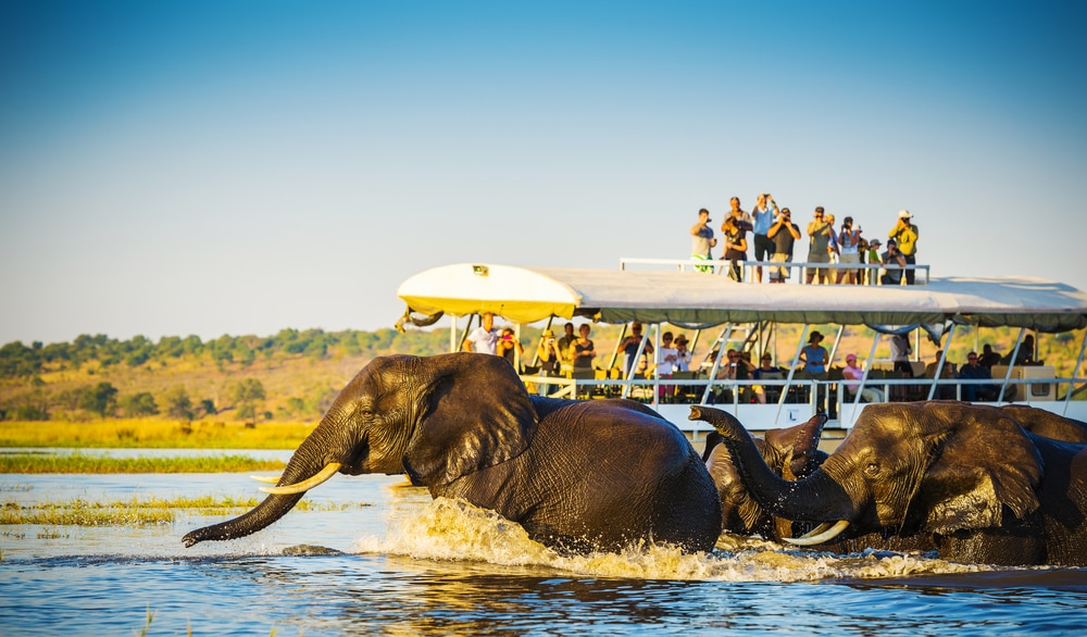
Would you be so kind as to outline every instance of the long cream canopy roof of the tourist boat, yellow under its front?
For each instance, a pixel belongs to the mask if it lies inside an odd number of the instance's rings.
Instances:
[[[945,277],[914,286],[738,283],[696,272],[520,267],[457,263],[397,290],[410,310],[454,316],[492,312],[516,323],[586,316],[601,323],[910,325],[1067,332],[1087,327],[1087,293],[1028,277]]]

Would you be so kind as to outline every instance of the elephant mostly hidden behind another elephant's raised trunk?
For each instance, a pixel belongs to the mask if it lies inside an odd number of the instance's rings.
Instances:
[[[721,410],[712,411],[717,414],[716,417],[733,417]],[[754,444],[774,473],[785,479],[797,479],[807,476],[826,459],[826,452],[819,449],[826,414],[816,414],[807,423],[783,429],[770,429],[762,438],[754,438]],[[721,434],[716,432],[710,432],[705,436],[702,461],[705,462],[710,477],[717,486],[717,496],[721,497],[721,524],[724,530],[745,536],[761,535],[765,539],[776,541],[790,537],[792,522],[774,517],[759,505],[740,480],[728,449],[721,445],[722,439]]]

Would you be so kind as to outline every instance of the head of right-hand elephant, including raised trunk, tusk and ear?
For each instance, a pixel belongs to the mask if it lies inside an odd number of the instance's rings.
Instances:
[[[786,538],[795,544],[829,541],[847,527],[847,536],[1008,529],[1039,507],[1039,452],[1015,421],[991,408],[867,405],[822,466],[796,482],[766,466],[738,423],[713,424],[760,504],[773,515],[822,523],[810,536]]]

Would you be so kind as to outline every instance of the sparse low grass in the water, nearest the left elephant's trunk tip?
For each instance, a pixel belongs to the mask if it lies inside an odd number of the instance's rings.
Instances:
[[[0,525],[37,524],[42,526],[149,526],[170,524],[178,511],[199,515],[241,513],[258,504],[254,498],[203,496],[199,498],[133,498],[112,502],[83,499],[21,505],[5,502],[0,510]],[[302,500],[295,511],[346,511],[368,507],[366,503],[313,503]],[[55,532],[45,532],[60,537]],[[40,534],[39,538],[42,537]]]

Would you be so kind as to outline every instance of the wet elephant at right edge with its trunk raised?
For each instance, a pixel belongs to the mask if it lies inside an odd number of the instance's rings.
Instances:
[[[1029,432],[1009,413],[958,401],[870,404],[796,482],[766,465],[735,419],[704,420],[759,504],[821,523],[797,544],[848,546],[875,534],[952,561],[1087,565],[1087,445]]]

